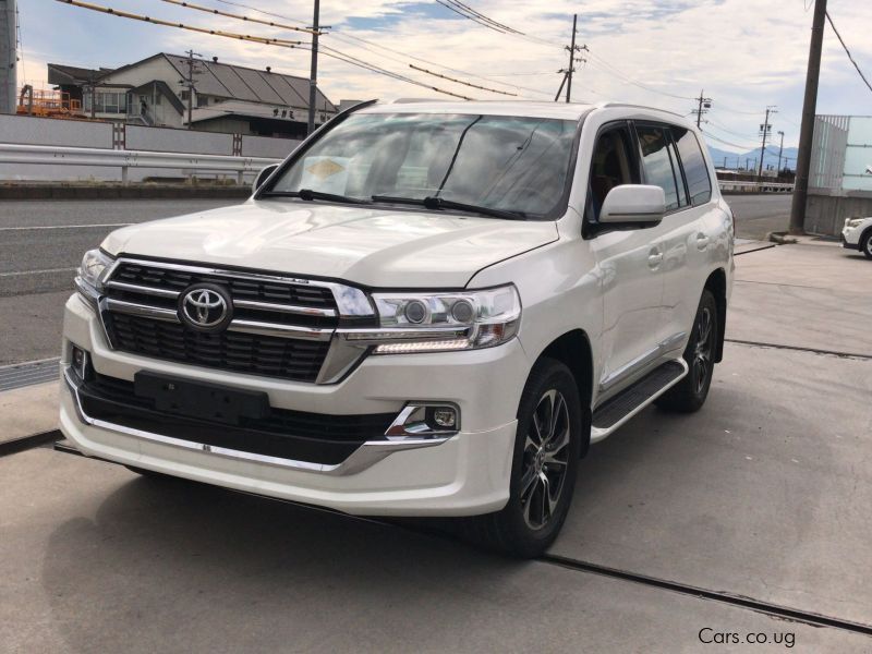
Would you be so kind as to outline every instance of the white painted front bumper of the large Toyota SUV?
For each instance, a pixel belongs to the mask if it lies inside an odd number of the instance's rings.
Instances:
[[[266,391],[279,409],[399,413],[408,402],[460,409],[462,431],[438,443],[367,443],[337,465],[270,460],[89,420],[64,376],[61,429],[85,455],[199,482],[329,507],[355,514],[464,516],[501,508],[509,494],[514,412],[529,362],[516,339],[489,350],[371,356],[341,384],[316,386],[144,359],[109,348],[77,295],[66,304],[62,366],[71,343],[90,352],[104,375],[133,379],[148,370]]]

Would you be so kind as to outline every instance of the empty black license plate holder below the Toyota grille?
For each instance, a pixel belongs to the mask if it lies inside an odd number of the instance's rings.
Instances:
[[[269,396],[221,384],[140,371],[133,376],[137,397],[154,400],[155,410],[195,420],[239,425],[241,419],[269,415]]]

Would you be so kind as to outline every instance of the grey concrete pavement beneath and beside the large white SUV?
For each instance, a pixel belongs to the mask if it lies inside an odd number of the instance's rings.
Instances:
[[[738,257],[703,410],[584,460],[552,554],[707,598],[34,449],[0,458],[0,651],[872,652],[717,598],[872,627],[869,288],[833,243]]]

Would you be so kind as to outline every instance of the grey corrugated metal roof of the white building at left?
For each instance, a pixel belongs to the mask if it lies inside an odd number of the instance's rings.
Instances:
[[[187,58],[179,55],[164,57],[182,77],[187,75]],[[258,71],[256,69],[209,60],[197,60],[194,84],[197,92],[221,98],[264,102],[267,105],[288,105],[308,107],[308,80],[295,75]],[[318,89],[316,108],[336,111],[336,106]]]

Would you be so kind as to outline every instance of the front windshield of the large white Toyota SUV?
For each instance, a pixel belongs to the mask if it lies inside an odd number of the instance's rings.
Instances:
[[[351,116],[312,145],[272,193],[390,203],[440,198],[541,218],[560,204],[577,123],[433,113]],[[428,203],[433,208],[434,203]]]

